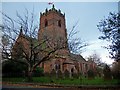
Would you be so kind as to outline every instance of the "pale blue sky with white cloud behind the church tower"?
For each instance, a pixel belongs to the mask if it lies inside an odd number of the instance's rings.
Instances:
[[[101,35],[97,29],[100,20],[107,18],[109,12],[118,12],[117,2],[55,2],[55,8],[61,9],[65,13],[66,28],[69,30],[78,22],[76,30],[79,31],[76,37],[81,37],[90,46],[82,53],[83,57],[87,57],[96,52],[100,55],[104,62],[112,63],[108,51],[101,46],[105,46],[107,42],[98,39]],[[40,12],[44,12],[46,8],[51,6],[47,2],[35,3],[2,3],[2,11],[12,18],[15,18],[16,11],[24,14],[25,8],[32,11],[34,7],[37,21],[39,22]],[[39,23],[38,23],[39,25]]]

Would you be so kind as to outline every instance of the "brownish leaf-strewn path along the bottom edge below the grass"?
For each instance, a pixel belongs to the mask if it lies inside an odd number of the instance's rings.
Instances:
[[[11,88],[11,89],[10,89]],[[58,85],[58,84],[42,84],[42,83],[13,83],[13,82],[2,82],[2,90],[26,90],[31,88],[33,90],[43,88],[49,88],[49,90],[59,89],[59,90],[120,90],[120,85]],[[21,88],[21,89],[20,89]],[[42,89],[40,89],[42,88]],[[46,90],[46,89],[45,89]]]

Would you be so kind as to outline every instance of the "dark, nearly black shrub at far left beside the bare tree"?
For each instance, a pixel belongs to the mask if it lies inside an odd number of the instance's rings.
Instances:
[[[25,76],[25,71],[27,66],[24,64],[9,60],[2,63],[3,77],[22,77]]]

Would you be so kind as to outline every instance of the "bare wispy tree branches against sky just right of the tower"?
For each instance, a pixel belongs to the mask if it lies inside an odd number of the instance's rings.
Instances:
[[[81,54],[83,52],[83,48],[88,46],[88,43],[85,43],[80,37],[77,36],[79,31],[76,31],[75,28],[78,22],[73,25],[72,29],[68,34],[68,47],[69,50],[74,54]]]

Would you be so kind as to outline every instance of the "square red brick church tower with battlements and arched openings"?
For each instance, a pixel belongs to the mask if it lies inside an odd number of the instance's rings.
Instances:
[[[60,9],[56,10],[53,5],[51,9],[46,9],[44,13],[40,13],[39,42],[47,38],[52,42],[62,39],[66,43],[66,32],[65,14],[62,14]]]

